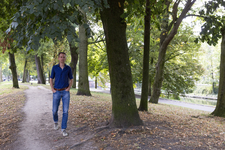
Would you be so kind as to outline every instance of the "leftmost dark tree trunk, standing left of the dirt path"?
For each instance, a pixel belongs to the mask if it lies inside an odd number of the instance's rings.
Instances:
[[[9,52],[9,62],[10,66],[9,69],[12,72],[12,80],[13,80],[13,87],[14,88],[19,88],[19,83],[17,79],[17,72],[16,72],[16,63],[15,63],[15,56],[14,53]]]

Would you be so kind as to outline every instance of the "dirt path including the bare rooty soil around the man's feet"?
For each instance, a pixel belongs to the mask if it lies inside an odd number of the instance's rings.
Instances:
[[[23,108],[24,119],[19,125],[20,132],[14,135],[16,141],[9,146],[9,150],[65,150],[73,145],[77,146],[72,149],[97,149],[92,141],[83,144],[83,141],[93,137],[87,127],[77,128],[68,122],[67,137],[62,136],[60,129],[53,129],[51,90],[43,86],[29,86],[25,94],[27,101]],[[60,123],[61,106],[58,112]]]

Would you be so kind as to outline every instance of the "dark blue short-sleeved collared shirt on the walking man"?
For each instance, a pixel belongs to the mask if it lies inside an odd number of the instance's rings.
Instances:
[[[66,65],[60,68],[59,64],[52,67],[50,78],[55,78],[54,88],[62,89],[69,86],[69,79],[73,79],[73,74],[70,66]]]

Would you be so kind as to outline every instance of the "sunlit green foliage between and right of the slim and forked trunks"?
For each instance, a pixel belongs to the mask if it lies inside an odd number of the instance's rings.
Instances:
[[[142,18],[135,18],[132,25],[128,24],[127,36],[129,44],[129,56],[132,67],[133,82],[141,82],[142,76],[142,56],[143,56],[143,30],[138,23]],[[137,30],[132,30],[137,26]],[[139,27],[139,28],[138,28]],[[177,35],[168,46],[164,81],[162,89],[169,93],[190,92],[203,73],[203,68],[199,62],[198,52],[200,44],[194,42],[196,36],[193,29],[183,24],[178,30]],[[150,44],[150,65],[149,76],[154,80],[155,63],[158,57],[160,32],[157,27],[152,25],[151,44]]]

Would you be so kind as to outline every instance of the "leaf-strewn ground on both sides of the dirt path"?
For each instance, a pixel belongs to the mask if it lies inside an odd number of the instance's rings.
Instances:
[[[57,150],[69,149],[77,142],[80,147],[74,149],[204,150],[225,147],[225,118],[166,104],[149,104],[148,112],[139,112],[143,126],[97,131],[110,119],[111,96],[95,92],[92,92],[92,96],[78,96],[76,92],[71,90],[69,136],[64,138],[53,132],[58,136],[49,139]],[[18,132],[18,122],[22,118],[20,109],[24,101],[21,93],[0,99],[0,149],[13,140],[13,133]],[[139,102],[137,100],[137,105]],[[83,143],[79,145],[79,142]]]

